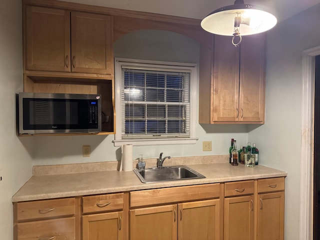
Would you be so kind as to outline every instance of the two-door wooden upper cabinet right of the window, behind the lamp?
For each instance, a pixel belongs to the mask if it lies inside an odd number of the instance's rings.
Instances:
[[[264,123],[265,35],[231,39],[214,35],[211,54],[201,46],[199,123]]]

